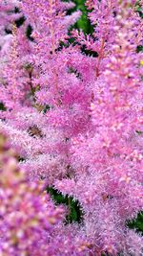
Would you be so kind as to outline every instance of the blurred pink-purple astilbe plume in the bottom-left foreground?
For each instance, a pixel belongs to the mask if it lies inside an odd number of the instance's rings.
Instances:
[[[61,236],[65,210],[55,207],[41,182],[30,182],[17,154],[0,134],[1,255],[82,255],[86,244]],[[75,246],[75,244],[77,246]]]

